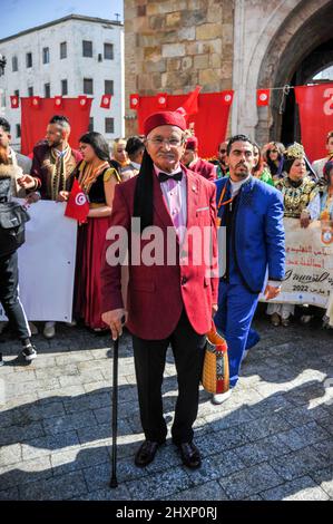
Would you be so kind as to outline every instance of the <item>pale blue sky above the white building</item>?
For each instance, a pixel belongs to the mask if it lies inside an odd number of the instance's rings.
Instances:
[[[3,6],[2,6],[3,2]],[[68,14],[124,20],[123,0],[0,0],[0,39]]]

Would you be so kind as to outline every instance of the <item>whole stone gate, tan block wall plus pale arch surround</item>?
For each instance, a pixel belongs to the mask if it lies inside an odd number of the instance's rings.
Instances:
[[[203,93],[234,89],[227,134],[280,139],[282,91],[258,108],[256,89],[291,83],[332,38],[332,0],[125,0],[127,133],[136,132],[130,93],[176,95],[200,85]]]

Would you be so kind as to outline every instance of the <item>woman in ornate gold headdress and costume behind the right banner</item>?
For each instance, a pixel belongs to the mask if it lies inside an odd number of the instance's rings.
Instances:
[[[284,216],[300,220],[301,227],[307,227],[314,213],[310,203],[319,192],[317,184],[307,176],[304,148],[294,143],[286,151],[284,159],[284,178],[275,187],[283,194]],[[290,317],[294,314],[294,304],[272,302],[267,307],[273,326],[290,324]]]

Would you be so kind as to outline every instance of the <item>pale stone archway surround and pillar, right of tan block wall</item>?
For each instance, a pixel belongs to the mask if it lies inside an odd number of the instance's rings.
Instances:
[[[258,143],[280,138],[282,91],[256,107],[258,88],[290,84],[300,64],[332,38],[332,0],[235,0],[233,133]],[[238,28],[238,29],[237,29]]]

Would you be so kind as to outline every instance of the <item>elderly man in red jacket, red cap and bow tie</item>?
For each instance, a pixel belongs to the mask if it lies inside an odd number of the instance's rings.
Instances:
[[[102,319],[116,339],[121,334],[125,316],[133,334],[146,438],[135,457],[140,467],[154,460],[167,436],[161,384],[169,343],[178,379],[173,443],[187,467],[199,467],[202,463],[193,443],[193,424],[198,410],[205,334],[217,309],[215,185],[180,164],[185,129],[186,120],[177,111],[160,111],[145,122],[146,152],[140,172],[116,186],[101,272]],[[205,230],[209,232],[208,248],[198,239]],[[121,266],[112,260],[112,254],[123,249],[121,232],[130,240],[127,310],[121,297]],[[154,248],[150,235],[155,237]],[[209,248],[213,256],[207,260]],[[154,263],[147,260],[147,252],[154,252]]]

